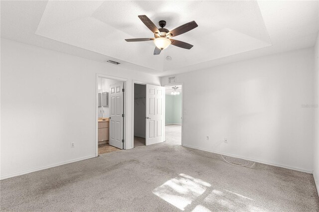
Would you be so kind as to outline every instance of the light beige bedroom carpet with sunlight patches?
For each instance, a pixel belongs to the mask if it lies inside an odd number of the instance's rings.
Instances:
[[[232,166],[166,140],[2,180],[0,210],[319,211],[311,174]]]

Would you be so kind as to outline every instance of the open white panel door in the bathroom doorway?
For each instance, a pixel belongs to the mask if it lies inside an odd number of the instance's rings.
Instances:
[[[110,139],[111,146],[123,149],[123,83],[110,86]]]

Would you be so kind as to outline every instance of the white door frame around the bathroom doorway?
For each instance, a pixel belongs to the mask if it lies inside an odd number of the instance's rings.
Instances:
[[[106,75],[106,74],[99,74],[96,73],[96,87],[95,87],[95,157],[97,157],[99,155],[98,152],[98,145],[99,145],[99,141],[98,141],[98,132],[99,132],[99,97],[98,97],[98,92],[99,92],[99,78],[104,78],[104,79],[109,79],[109,80],[117,80],[117,81],[121,81],[123,82],[123,88],[125,89],[125,92],[123,94],[123,101],[124,101],[124,108],[123,108],[123,113],[124,118],[123,118],[123,139],[124,139],[124,144],[123,144],[123,149],[127,149],[127,135],[128,135],[128,127],[127,127],[127,117],[128,117],[128,95],[127,95],[127,81],[128,79],[126,78],[121,78],[121,77],[114,77],[114,76],[110,76],[110,75]]]

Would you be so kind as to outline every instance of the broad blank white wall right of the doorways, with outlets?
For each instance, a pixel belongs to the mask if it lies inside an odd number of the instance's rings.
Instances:
[[[313,170],[313,49],[177,75],[183,83],[183,145]],[[161,85],[167,77],[161,78]],[[210,140],[206,140],[206,136]]]

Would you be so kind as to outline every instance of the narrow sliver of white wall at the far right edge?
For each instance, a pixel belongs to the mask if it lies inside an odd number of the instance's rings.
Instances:
[[[318,104],[319,104],[319,34],[317,36],[317,42],[314,47],[314,179],[316,182],[317,190],[319,193],[319,113],[318,113]]]

